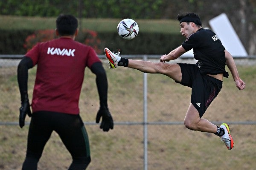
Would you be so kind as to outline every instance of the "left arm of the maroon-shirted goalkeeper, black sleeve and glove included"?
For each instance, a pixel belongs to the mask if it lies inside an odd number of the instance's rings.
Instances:
[[[20,90],[20,116],[19,125],[22,128],[25,125],[26,114],[31,116],[29,96],[28,96],[28,70],[33,67],[33,61],[29,57],[24,56],[17,68],[17,81]]]

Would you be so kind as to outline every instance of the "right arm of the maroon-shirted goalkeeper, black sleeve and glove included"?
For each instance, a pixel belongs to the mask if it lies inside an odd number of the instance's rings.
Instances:
[[[95,62],[91,66],[91,71],[96,75],[96,84],[99,93],[100,108],[96,116],[96,123],[99,123],[102,117],[100,128],[103,131],[113,129],[113,119],[108,111],[108,80],[105,69],[101,62]]]

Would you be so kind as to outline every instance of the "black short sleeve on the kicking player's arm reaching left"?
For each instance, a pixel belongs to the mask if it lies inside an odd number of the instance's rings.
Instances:
[[[182,47],[189,51],[192,48],[198,48],[200,46],[200,37],[199,34],[191,34],[183,43]]]

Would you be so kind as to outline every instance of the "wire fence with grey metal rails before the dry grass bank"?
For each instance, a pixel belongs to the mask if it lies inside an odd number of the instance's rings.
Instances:
[[[26,154],[26,126],[18,126],[20,94],[17,64],[20,55],[0,55],[0,170],[21,169]],[[85,71],[80,114],[87,129],[92,162],[88,170],[253,170],[256,167],[256,58],[236,57],[246,89],[239,91],[232,76],[224,79],[218,97],[203,118],[230,124],[234,149],[227,150],[218,136],[186,129],[183,119],[191,89],[160,74],[144,74],[130,68],[108,69],[108,104],[115,125],[108,133],[95,123],[99,97],[95,77]],[[158,62],[159,56],[123,56]],[[175,62],[195,63],[181,57]],[[228,69],[227,69],[228,70]],[[34,82],[36,68],[29,70]],[[33,83],[29,84],[32,98]],[[67,169],[71,156],[57,133],[52,133],[38,163],[38,170]]]

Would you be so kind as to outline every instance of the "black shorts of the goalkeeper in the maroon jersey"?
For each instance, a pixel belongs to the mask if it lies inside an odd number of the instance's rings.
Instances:
[[[58,133],[73,159],[90,157],[89,140],[80,115],[50,111],[32,114],[27,156],[40,159],[53,130]]]

